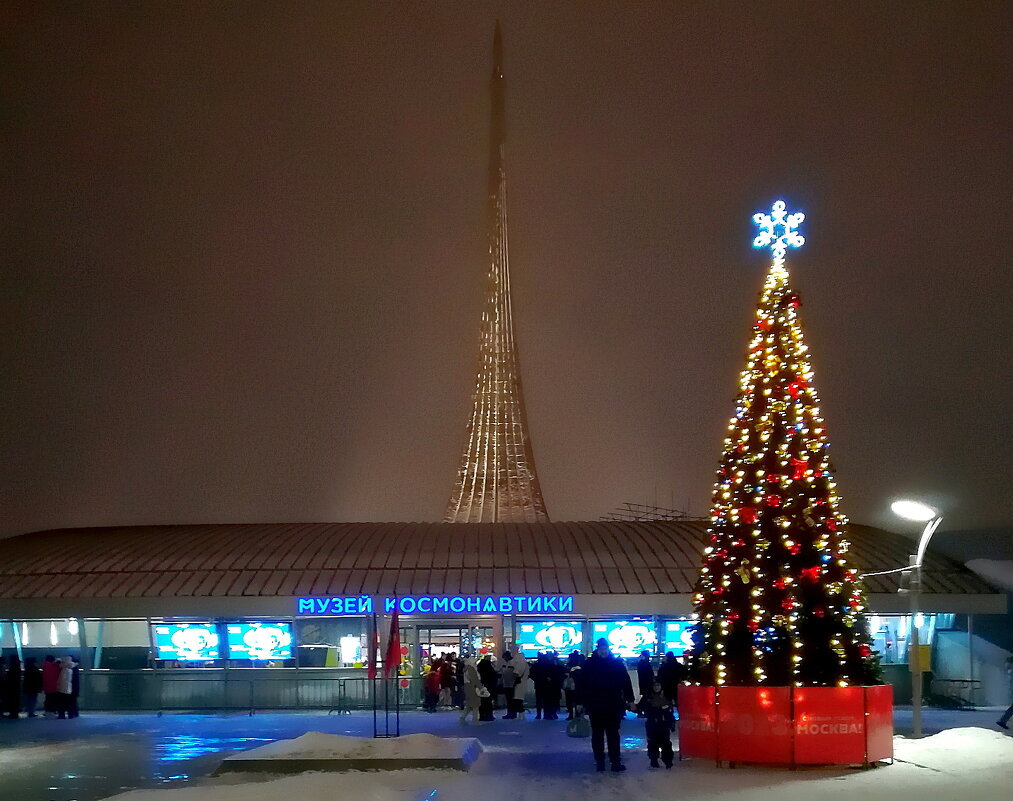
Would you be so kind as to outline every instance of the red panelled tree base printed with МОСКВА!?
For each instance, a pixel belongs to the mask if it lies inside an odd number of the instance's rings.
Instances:
[[[680,687],[679,751],[792,767],[892,759],[893,688]]]

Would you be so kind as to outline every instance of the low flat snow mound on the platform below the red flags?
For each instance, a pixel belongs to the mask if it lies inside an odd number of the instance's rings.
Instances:
[[[455,759],[474,740],[405,734],[390,739],[308,731],[236,754],[238,759]]]

